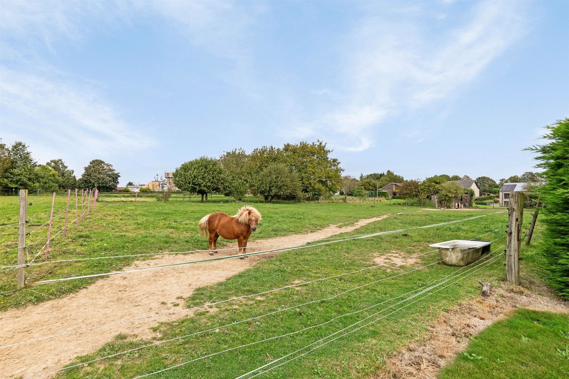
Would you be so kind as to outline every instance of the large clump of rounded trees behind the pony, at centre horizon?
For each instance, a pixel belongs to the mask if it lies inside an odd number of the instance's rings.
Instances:
[[[218,159],[199,157],[180,165],[174,185],[207,199],[221,192],[240,199],[248,193],[266,201],[282,196],[326,196],[341,189],[340,161],[330,156],[323,141],[263,146],[224,152]]]

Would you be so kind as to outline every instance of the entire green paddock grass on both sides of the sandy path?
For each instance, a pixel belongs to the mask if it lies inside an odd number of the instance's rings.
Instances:
[[[12,203],[4,199],[0,201],[3,201],[0,204],[3,214],[11,212],[12,218],[16,218],[17,209],[14,199],[11,200]],[[48,210],[48,207],[40,208],[46,203],[49,202],[38,204],[36,208],[38,214]],[[127,252],[145,253],[207,248],[204,239],[197,235],[197,220],[213,211],[233,214],[237,206],[236,203],[101,202],[98,203],[97,210],[91,213],[83,224],[74,229],[70,228],[65,239],[53,240],[50,254],[52,259],[63,259],[117,255]],[[352,234],[398,230],[492,213],[492,211],[481,210],[424,211],[413,207],[389,206],[386,202],[376,207],[370,207],[369,203],[362,205],[358,203],[259,204],[258,209],[263,213],[263,220],[259,224],[258,232],[251,237],[251,242],[254,242],[253,238],[264,239],[304,233],[318,230],[328,224],[350,224],[358,219],[388,213],[403,212],[402,215],[390,216],[380,222],[368,224]],[[506,223],[507,215],[502,213],[441,227],[287,251],[230,277],[224,282],[200,288],[184,301],[190,307],[240,295],[259,293],[299,281],[334,276],[372,266],[376,264],[374,262],[378,256],[386,253],[398,256],[417,255],[432,250],[428,248],[430,243],[450,239],[471,239],[488,232],[490,233],[484,235],[483,239],[496,240],[492,245],[494,251],[492,257],[500,257],[504,249],[502,246],[505,240],[504,229],[492,231],[505,226]],[[2,246],[9,248],[13,244],[13,242],[10,243],[12,234],[5,230],[2,231]],[[54,227],[54,230],[59,229]],[[540,231],[538,224],[534,237],[536,240],[539,239]],[[525,279],[539,281],[539,277],[543,275],[542,260],[535,253],[534,244],[529,248],[524,248],[522,256],[524,257],[522,272]],[[15,261],[14,251],[2,253],[1,257],[3,264],[13,264]],[[31,280],[36,280],[40,277],[109,272],[122,268],[132,260],[123,258],[57,266],[44,265],[35,270],[27,269],[26,273],[27,276],[31,276]],[[203,330],[213,329],[211,332],[176,339],[94,364],[81,365],[80,368],[66,370],[61,373],[61,376],[133,378],[199,359],[191,364],[184,364],[152,377],[233,378],[314,343],[378,311],[385,310],[376,316],[386,316],[378,322],[353,331],[307,355],[300,357],[293,355],[290,358],[297,358],[291,363],[261,376],[271,378],[367,377],[375,370],[381,369],[387,357],[398,348],[424,335],[428,323],[436,316],[464,299],[478,294],[480,291],[478,280],[483,279],[494,284],[504,280],[505,269],[502,266],[503,259],[500,258],[488,266],[480,266],[480,270],[447,288],[436,288],[440,289],[436,293],[433,292],[434,290],[427,291],[424,294],[427,296],[418,298],[417,302],[394,306],[401,299],[405,299],[406,293],[427,289],[429,285],[438,284],[448,275],[460,273],[456,272],[457,268],[437,264],[437,261],[438,254],[431,252],[418,257],[412,265],[381,266],[299,288],[276,291],[255,299],[233,301],[205,308],[196,312],[191,318],[182,318],[175,322],[157,325],[155,330],[160,336],[155,340],[144,341],[135,339],[135,336],[118,335],[116,340],[104,345],[92,355],[79,357],[77,363]],[[227,261],[227,264],[231,264],[231,261]],[[414,270],[424,265],[429,266]],[[414,271],[411,272],[411,270]],[[406,273],[408,271],[409,273]],[[2,290],[13,288],[15,285],[13,273],[2,274],[0,282]],[[389,279],[390,276],[398,274],[402,275]],[[382,281],[370,284],[378,280]],[[38,286],[32,288],[35,293],[23,290],[3,299],[2,307],[6,309],[43,301],[50,297],[59,297],[76,291],[90,282],[92,280]],[[363,287],[358,288],[359,286]],[[349,292],[338,295],[348,290]],[[319,299],[336,295],[338,296],[333,299],[319,301]],[[316,302],[300,306],[311,301]],[[374,306],[378,303],[383,304]],[[291,310],[279,311],[296,305],[299,306]],[[406,307],[398,310],[403,305]],[[393,307],[387,310],[389,306]],[[372,308],[363,310],[366,307]],[[395,313],[389,314],[395,310]],[[279,312],[249,322],[221,327],[274,311]],[[357,313],[346,315],[351,312]],[[332,320],[336,317],[339,318]],[[369,318],[366,322],[376,317]],[[321,323],[325,324],[316,326]],[[298,332],[311,326],[314,327]],[[351,330],[348,328],[346,331]],[[295,333],[256,343],[291,332]],[[251,345],[239,347],[244,344]],[[230,348],[235,349],[202,359],[212,353]]]

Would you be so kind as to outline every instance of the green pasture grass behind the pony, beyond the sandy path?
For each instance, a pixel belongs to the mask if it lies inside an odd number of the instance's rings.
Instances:
[[[27,231],[38,228],[49,219],[51,196],[30,195],[28,201]],[[66,195],[56,197],[54,215],[65,210]],[[385,203],[383,203],[385,204]],[[75,201],[72,200],[69,222],[75,219]],[[59,234],[50,243],[50,260],[128,255],[167,251],[189,251],[207,249],[208,243],[197,231],[198,220],[209,213],[223,211],[235,214],[244,203],[193,203],[193,202],[98,202],[96,211],[90,211],[83,223],[69,224],[67,235]],[[320,230],[329,224],[353,224],[358,219],[370,218],[387,213],[397,213],[399,207],[377,206],[357,203],[289,203],[256,204],[263,214],[257,232],[251,235],[249,243],[255,240],[302,234]],[[85,206],[86,207],[86,206]],[[18,199],[0,197],[2,223],[18,221]],[[52,235],[63,228],[64,216],[53,220]],[[47,225],[27,237],[30,246],[28,259],[32,259],[47,241]],[[0,227],[0,251],[17,247],[18,226]],[[224,243],[220,239],[219,247]],[[151,258],[148,258],[151,259]],[[44,261],[42,252],[35,263]],[[64,264],[46,264],[26,268],[27,282],[69,276],[105,273],[119,270],[135,260],[133,257],[102,259]],[[188,260],[193,260],[188,257]],[[17,264],[17,250],[0,252],[0,265]],[[55,285],[38,286],[0,299],[0,310],[45,301],[72,293],[92,283],[94,279],[60,282]],[[0,271],[0,292],[14,289],[14,270]]]

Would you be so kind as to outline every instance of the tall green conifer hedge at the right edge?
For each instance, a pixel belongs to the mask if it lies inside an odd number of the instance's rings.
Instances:
[[[569,118],[547,126],[543,136],[546,145],[527,150],[539,153],[536,167],[544,169],[545,185],[538,188],[546,205],[541,216],[545,233],[541,252],[548,262],[551,285],[562,297],[569,299]]]

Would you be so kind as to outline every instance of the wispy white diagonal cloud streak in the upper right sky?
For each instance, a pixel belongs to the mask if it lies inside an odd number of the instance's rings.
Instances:
[[[374,128],[390,115],[447,97],[517,41],[523,24],[519,7],[515,2],[479,3],[469,22],[444,34],[430,33],[414,18],[402,16],[393,23],[366,16],[344,44],[349,64],[343,101],[303,124],[303,138],[326,136],[335,148],[347,151],[371,147]]]

